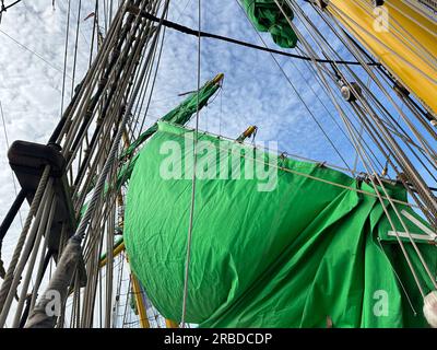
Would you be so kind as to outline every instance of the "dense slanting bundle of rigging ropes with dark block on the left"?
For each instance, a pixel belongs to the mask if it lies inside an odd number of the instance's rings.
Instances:
[[[141,131],[134,118],[139,117],[137,110],[146,93],[153,91],[156,52],[163,36],[161,23],[131,13],[128,7],[138,7],[163,19],[167,14],[168,2],[121,1],[97,56],[76,86],[48,144],[15,141],[11,147],[10,163],[32,206],[1,284],[0,327],[4,327],[7,319],[12,319],[12,327],[26,322],[22,312],[28,293],[32,295],[31,315],[34,305],[38,304],[37,298],[40,296],[44,303],[47,294],[38,295],[38,287],[47,273],[44,261],[52,258],[60,264],[66,248],[74,250],[75,258],[79,258],[75,262],[78,269],[69,269],[69,273],[73,273],[70,288],[74,291],[75,304],[70,326],[93,325],[101,253],[104,246],[114,244],[117,197],[123,196],[122,189],[114,187],[103,200],[104,184],[114,183],[117,178],[121,139],[128,142]],[[27,175],[29,172],[32,177]],[[83,209],[85,199],[87,201],[91,195]],[[20,203],[17,199],[14,207],[20,207]],[[16,213],[15,208],[11,213]],[[9,228],[3,225],[3,229],[7,231]],[[72,236],[75,236],[75,248],[69,241]],[[78,244],[82,249],[79,255]],[[38,262],[39,249],[43,249],[45,258]],[[114,269],[111,249],[108,249],[105,267],[108,273]],[[31,277],[36,272],[39,283],[29,291]],[[109,275],[106,283],[104,308],[110,312],[114,295]],[[19,284],[17,306],[9,317]],[[69,285],[70,280],[66,280],[57,287],[63,298],[62,305]],[[103,294],[99,298],[104,298]],[[59,319],[55,317],[45,322],[62,327],[63,324],[58,322],[62,323],[66,316],[63,312]],[[107,319],[110,320],[109,316]]]

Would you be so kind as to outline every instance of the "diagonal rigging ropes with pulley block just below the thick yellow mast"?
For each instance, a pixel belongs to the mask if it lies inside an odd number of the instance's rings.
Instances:
[[[414,101],[410,100],[411,97],[408,96],[405,91],[395,89],[398,96],[393,96],[395,80],[382,68],[375,70],[367,63],[371,59],[370,55],[359,47],[351,34],[342,27],[341,22],[331,15],[328,10],[331,7],[330,2],[311,1],[310,4],[324,21],[330,34],[335,35],[349,54],[361,63],[364,77],[367,77],[374,84],[373,90],[364,81],[363,74],[358,74],[349,66],[340,66],[334,62],[334,60],[343,59],[343,54],[332,47],[327,35],[322,34],[314,21],[303,11],[298,1],[285,0],[284,3],[279,0],[272,1],[296,33],[300,50],[311,59],[311,65],[307,65],[308,69],[317,77],[319,85],[335,106],[365,172],[373,177],[374,186],[383,186],[385,176],[381,175],[387,172],[385,172],[385,166],[377,165],[379,160],[371,149],[369,150],[364,144],[363,136],[358,131],[362,127],[371,144],[385,159],[383,162],[393,170],[397,180],[406,188],[428,222],[437,228],[436,196],[415,165],[418,162],[435,178],[433,172],[437,170],[437,153],[435,147],[428,140],[436,139],[437,133],[429,121],[425,121],[427,117],[429,118],[429,115],[426,112],[424,113],[424,109],[421,109]],[[354,1],[347,1],[347,3],[352,2]],[[369,3],[370,1],[361,0],[358,2]],[[336,8],[333,7],[333,9]],[[293,15],[290,15],[290,10]],[[303,24],[302,27],[295,24],[297,20]],[[331,60],[331,71],[319,62],[319,52]],[[395,84],[394,88],[397,88]],[[341,92],[340,96],[339,92]],[[381,103],[381,97],[388,101],[390,108]],[[412,115],[402,110],[401,105],[404,101],[411,102],[411,104],[405,102],[405,105],[410,108]],[[398,120],[402,120],[406,127],[397,120],[395,115],[399,116]],[[414,119],[424,125],[423,131],[417,129]],[[383,192],[386,192],[385,189],[381,194]],[[400,214],[397,213],[397,217],[400,218]]]

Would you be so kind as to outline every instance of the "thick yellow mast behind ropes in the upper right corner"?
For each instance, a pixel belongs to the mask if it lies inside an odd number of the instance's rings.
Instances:
[[[437,115],[437,25],[405,1],[330,0],[326,8]]]

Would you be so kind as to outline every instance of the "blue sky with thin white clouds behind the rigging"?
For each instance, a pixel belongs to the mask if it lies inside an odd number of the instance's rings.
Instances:
[[[92,21],[82,20],[94,9],[93,2],[82,2],[76,82],[87,69],[92,31]],[[204,31],[262,45],[236,0],[202,2]],[[57,0],[54,11],[49,0],[24,0],[3,15],[0,24],[0,102],[10,142],[24,139],[45,143],[59,119],[67,3],[67,0]],[[78,0],[71,1],[73,15],[68,49],[67,97],[71,94],[78,3]],[[169,20],[197,28],[197,0],[172,1]],[[303,8],[322,28],[311,9],[307,4],[303,4]],[[269,46],[275,47],[269,34],[261,35]],[[344,55],[332,35],[328,39]],[[182,101],[179,93],[196,89],[197,44],[196,37],[167,30],[156,88],[146,117],[149,124]],[[270,54],[211,39],[202,39],[201,48],[201,81],[204,82],[218,72],[225,74],[223,90],[202,110],[201,129],[236,138],[249,125],[257,125],[258,140],[277,141],[280,150],[291,154],[343,165]],[[350,59],[347,56],[343,58]],[[330,118],[329,113],[340,122],[332,103],[316,83],[307,63],[286,57],[277,57],[277,60],[326,132],[352,165],[355,152]],[[359,73],[358,70],[357,72]],[[329,113],[317,101],[316,95],[328,106]],[[391,107],[389,109],[393,110]],[[14,187],[7,161],[5,137],[0,133],[0,218],[5,214],[13,198]],[[19,230],[19,222],[15,222],[14,228]],[[11,235],[5,241],[7,252],[8,247],[13,246],[14,240]]]

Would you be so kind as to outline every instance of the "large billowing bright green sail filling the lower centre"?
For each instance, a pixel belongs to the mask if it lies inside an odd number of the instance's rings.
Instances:
[[[130,265],[152,303],[174,320],[181,316],[191,202],[193,148],[185,137],[192,138],[193,131],[158,124],[132,173],[125,221]],[[426,326],[422,296],[399,244],[386,240],[391,229],[369,185],[209,135],[199,140],[221,142],[217,155],[200,151],[199,168],[213,168],[211,161],[220,160],[216,171],[234,174],[238,163],[222,161],[231,154],[227,147],[247,158],[237,156],[244,163],[241,179],[202,179],[199,173],[187,322],[201,327],[326,327],[330,318],[333,327]],[[168,162],[169,145],[180,147],[177,162]],[[259,191],[262,180],[244,179],[250,177],[245,166],[256,164],[248,159],[252,154],[290,170],[277,172],[273,190]],[[179,165],[184,179],[160,175],[163,168],[177,174]],[[390,194],[406,200],[402,188],[390,188]],[[406,206],[398,208],[412,213]],[[404,231],[397,220],[394,224]],[[409,229],[422,233],[412,223]],[[404,240],[404,246],[429,292],[430,280],[411,243]],[[417,246],[435,276],[436,247]]]

